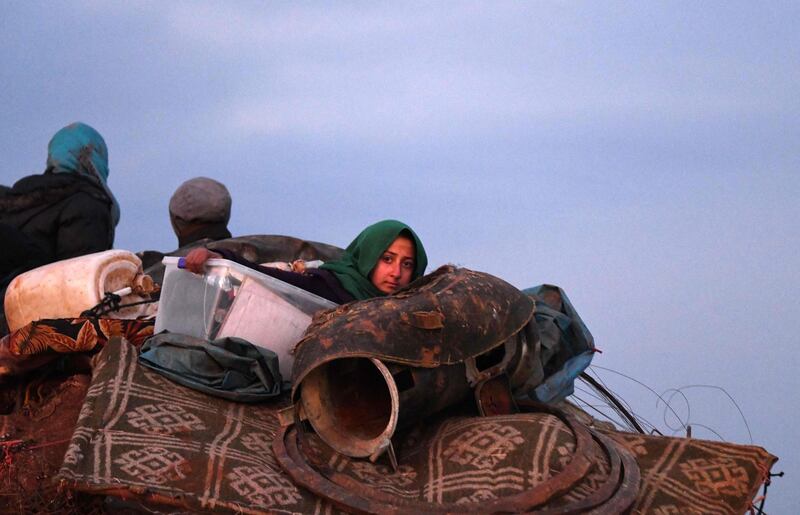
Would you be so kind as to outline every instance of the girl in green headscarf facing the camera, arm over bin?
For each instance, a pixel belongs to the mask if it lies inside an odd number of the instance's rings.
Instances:
[[[422,241],[411,227],[397,220],[370,225],[347,246],[340,259],[303,273],[263,267],[219,248],[194,249],[187,254],[185,267],[202,273],[211,258],[236,261],[337,304],[390,295],[421,277],[428,266]]]

